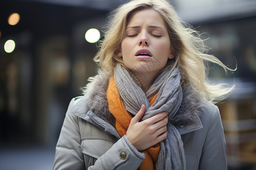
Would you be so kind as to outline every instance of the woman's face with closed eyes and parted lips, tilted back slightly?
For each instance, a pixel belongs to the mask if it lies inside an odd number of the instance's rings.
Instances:
[[[117,53],[135,74],[157,76],[174,58],[164,19],[154,9],[134,12],[128,20],[121,49]]]

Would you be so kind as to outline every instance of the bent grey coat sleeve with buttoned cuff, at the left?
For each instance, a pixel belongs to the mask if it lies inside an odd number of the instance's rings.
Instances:
[[[53,169],[86,169],[81,150],[81,135],[78,117],[70,113],[74,99],[69,104],[60,137],[56,145]],[[126,135],[98,158],[88,169],[137,169],[144,160],[144,154],[134,148]]]

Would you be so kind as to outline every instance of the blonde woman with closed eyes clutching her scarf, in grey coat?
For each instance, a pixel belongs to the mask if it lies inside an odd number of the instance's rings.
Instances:
[[[226,169],[213,104],[230,89],[205,82],[203,40],[164,0],[114,11],[95,59],[101,70],[72,99],[53,169]]]

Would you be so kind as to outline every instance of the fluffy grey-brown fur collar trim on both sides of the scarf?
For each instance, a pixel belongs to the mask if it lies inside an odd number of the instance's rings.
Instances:
[[[112,113],[109,112],[108,100],[106,99],[109,78],[110,74],[103,70],[98,70],[98,74],[89,78],[89,83],[82,88],[89,109],[102,118],[113,118]],[[199,117],[201,111],[202,100],[200,95],[196,94],[196,92],[185,83],[182,83],[181,87],[183,89],[183,100],[174,119],[170,120],[172,124],[195,121]]]

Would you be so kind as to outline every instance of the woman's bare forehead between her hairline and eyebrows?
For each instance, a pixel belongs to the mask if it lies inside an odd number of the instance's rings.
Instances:
[[[141,24],[165,26],[163,17],[152,8],[135,11],[127,21],[127,26]]]

